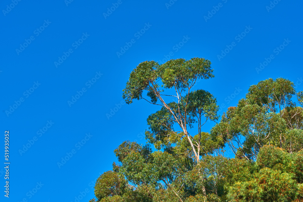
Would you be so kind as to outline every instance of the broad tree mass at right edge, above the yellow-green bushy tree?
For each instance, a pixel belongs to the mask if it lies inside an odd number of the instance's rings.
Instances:
[[[292,100],[295,94],[294,84],[287,79],[260,81],[249,88],[246,99],[228,108],[212,134],[222,136],[237,157],[248,161],[256,161],[264,145],[292,151],[292,143],[301,144],[300,131],[295,136],[289,130],[301,128],[303,121],[301,107]],[[298,93],[299,103],[300,96]]]

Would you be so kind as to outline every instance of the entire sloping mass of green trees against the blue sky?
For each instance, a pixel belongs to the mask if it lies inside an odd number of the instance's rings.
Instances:
[[[146,145],[114,150],[118,163],[100,175],[90,202],[303,201],[303,92],[269,78],[219,120],[216,98],[194,87],[213,77],[204,58],[145,61],[131,72],[125,102],[159,110],[147,118]],[[207,121],[215,126],[203,132]]]

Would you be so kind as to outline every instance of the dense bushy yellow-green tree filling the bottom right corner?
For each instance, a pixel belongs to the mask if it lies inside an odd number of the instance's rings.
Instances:
[[[229,187],[228,200],[239,202],[302,200],[299,184],[301,159],[300,153],[289,154],[274,146],[262,147],[255,162],[255,172],[251,174],[249,180],[239,180]]]

